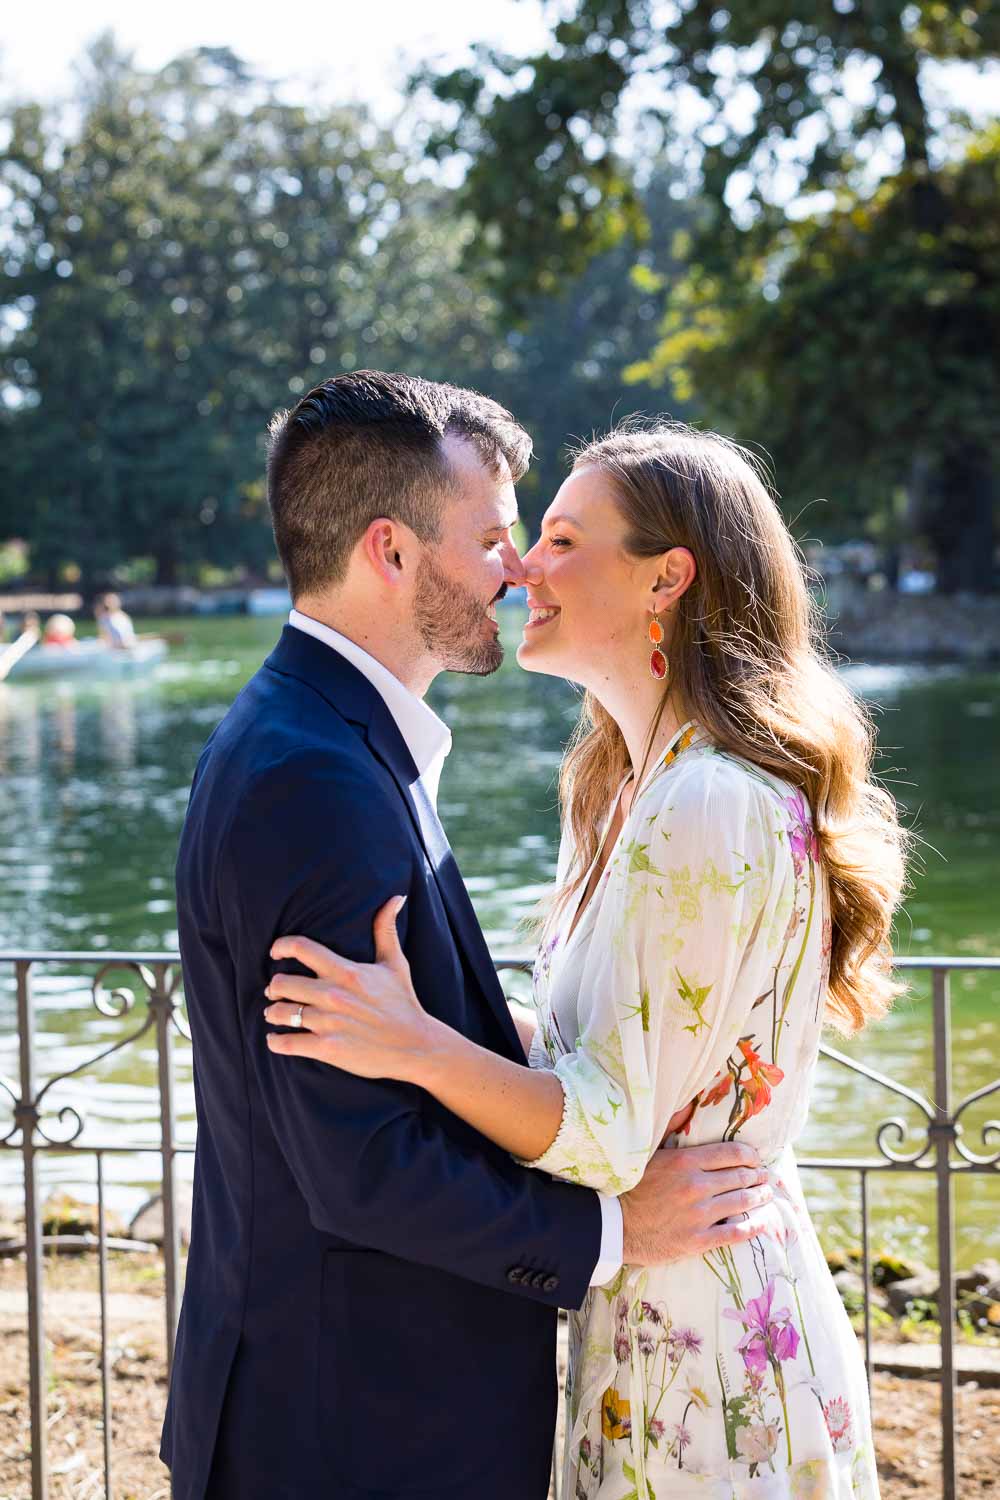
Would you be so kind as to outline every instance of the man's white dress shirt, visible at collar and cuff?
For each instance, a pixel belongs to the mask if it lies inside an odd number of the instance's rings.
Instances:
[[[436,810],[441,771],[451,750],[451,730],[448,726],[424,704],[423,698],[417,698],[408,687],[403,687],[388,668],[376,662],[373,656],[354,640],[349,640],[348,636],[342,636],[339,630],[331,630],[330,626],[324,626],[310,615],[303,615],[298,609],[292,609],[288,622],[295,630],[303,630],[307,636],[313,636],[316,640],[324,640],[328,646],[333,646],[334,651],[346,657],[351,666],[357,668],[369,680],[396,720],[396,728],[406,742],[430,804]],[[622,1208],[618,1198],[610,1197],[607,1192],[598,1192],[597,1196],[601,1204],[601,1252],[591,1276],[591,1286],[603,1287],[622,1268],[624,1227]]]

